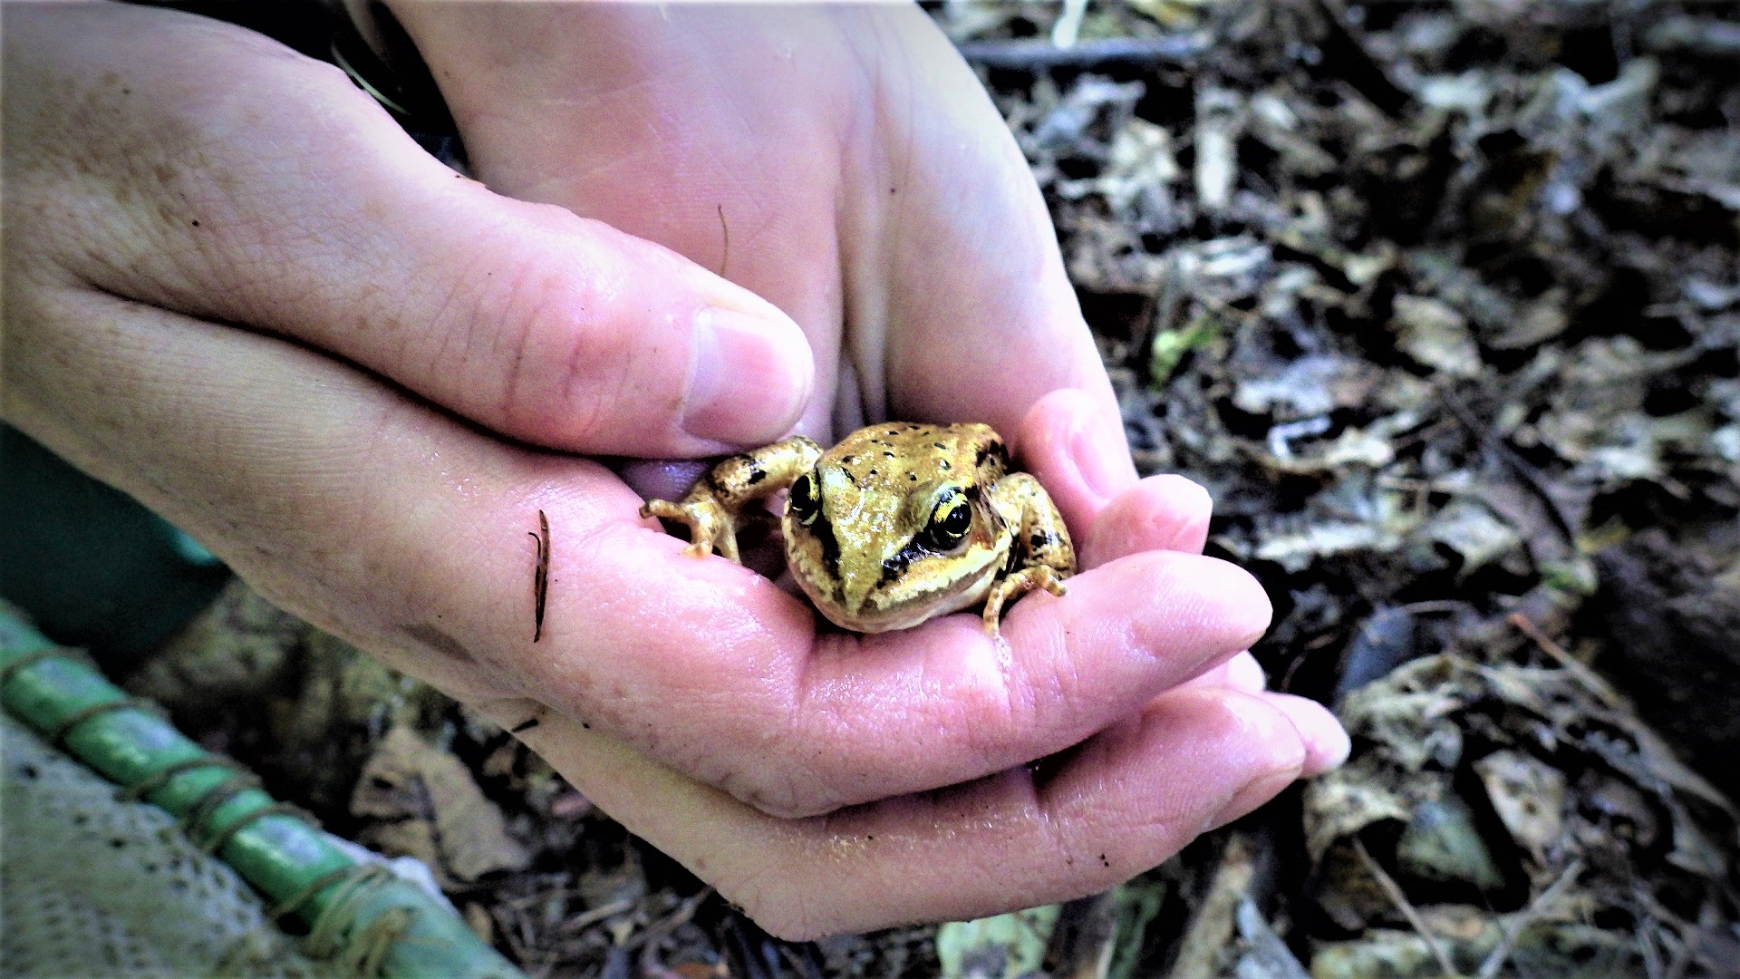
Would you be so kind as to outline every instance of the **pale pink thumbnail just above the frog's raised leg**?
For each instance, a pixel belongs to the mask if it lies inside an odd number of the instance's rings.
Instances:
[[[814,368],[795,324],[708,307],[694,317],[691,350],[684,432],[759,446],[797,423]]]

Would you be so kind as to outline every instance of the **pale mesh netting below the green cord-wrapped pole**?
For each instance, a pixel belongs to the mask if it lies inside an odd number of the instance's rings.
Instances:
[[[327,977],[176,820],[0,714],[0,972]]]

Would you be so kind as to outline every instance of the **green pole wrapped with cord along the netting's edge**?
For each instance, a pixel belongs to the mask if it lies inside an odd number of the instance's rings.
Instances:
[[[334,847],[238,765],[186,739],[150,704],[0,606],[0,704],[124,789],[181,819],[273,906],[308,928],[310,953],[358,976],[524,979],[414,883]]]

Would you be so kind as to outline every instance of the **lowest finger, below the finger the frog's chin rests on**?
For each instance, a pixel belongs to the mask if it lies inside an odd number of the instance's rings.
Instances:
[[[498,721],[517,706],[496,704]],[[630,831],[786,939],[966,920],[1105,890],[1295,777],[1286,714],[1180,690],[1041,766],[781,820],[569,721],[522,735]]]

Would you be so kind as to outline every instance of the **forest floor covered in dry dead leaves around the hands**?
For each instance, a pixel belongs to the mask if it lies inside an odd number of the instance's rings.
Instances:
[[[130,686],[532,976],[1740,976],[1740,10],[933,12],[1345,768],[1100,897],[790,944],[245,591]]]

